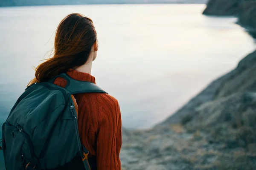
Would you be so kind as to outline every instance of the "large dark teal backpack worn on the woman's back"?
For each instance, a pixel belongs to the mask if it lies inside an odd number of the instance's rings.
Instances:
[[[65,88],[53,84],[57,77],[67,80]],[[3,123],[6,170],[90,170],[71,95],[106,92],[65,73],[55,78],[26,88]]]

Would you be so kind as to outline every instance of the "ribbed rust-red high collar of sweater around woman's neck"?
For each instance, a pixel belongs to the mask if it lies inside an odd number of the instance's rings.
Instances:
[[[88,73],[79,72],[73,68],[70,68],[66,73],[72,79],[79,80],[79,81],[93,82],[94,84],[96,84],[95,77],[93,77]]]

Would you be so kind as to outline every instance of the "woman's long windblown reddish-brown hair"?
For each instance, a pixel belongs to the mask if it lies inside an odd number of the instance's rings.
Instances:
[[[84,65],[90,55],[91,48],[97,40],[93,21],[82,14],[69,14],[58,25],[53,57],[35,68],[35,82],[46,82],[49,79]]]

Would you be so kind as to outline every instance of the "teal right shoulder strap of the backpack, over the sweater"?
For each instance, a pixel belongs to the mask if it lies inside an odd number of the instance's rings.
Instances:
[[[78,93],[105,93],[104,90],[99,88],[93,82],[86,82],[86,81],[78,81],[69,77],[66,73],[62,73],[53,79],[50,79],[49,82],[53,83],[57,77],[62,77],[67,80],[67,85],[65,89],[69,91],[71,94],[78,94]]]

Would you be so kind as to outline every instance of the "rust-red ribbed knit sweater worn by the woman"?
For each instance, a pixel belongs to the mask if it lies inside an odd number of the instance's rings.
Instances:
[[[76,80],[95,82],[95,77],[70,69],[67,74]],[[67,81],[61,77],[54,84],[61,87]],[[75,94],[78,105],[78,127],[81,143],[96,156],[97,170],[121,170],[119,153],[122,145],[122,122],[118,101],[100,93]],[[76,108],[77,109],[77,108]]]

